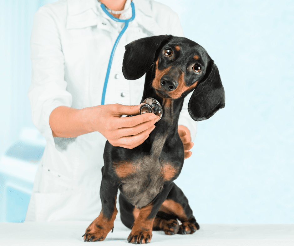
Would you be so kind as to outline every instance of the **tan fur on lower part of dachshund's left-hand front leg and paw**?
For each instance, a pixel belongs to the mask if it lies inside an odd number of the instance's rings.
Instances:
[[[112,230],[112,228],[114,227],[113,223],[117,214],[116,195],[117,195],[117,192],[114,197],[114,200],[115,200],[114,211],[110,219],[107,219],[106,216],[103,214],[103,211],[101,210],[99,216],[96,219],[94,219],[94,221],[86,229],[85,234],[90,234],[88,238],[95,236],[95,239],[101,238],[100,241],[103,241],[106,238],[107,234],[110,232],[110,230]],[[85,238],[86,238],[86,235],[84,236],[84,240]]]

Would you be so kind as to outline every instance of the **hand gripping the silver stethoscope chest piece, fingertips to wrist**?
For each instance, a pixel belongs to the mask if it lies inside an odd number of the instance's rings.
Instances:
[[[99,105],[84,108],[86,124],[90,131],[99,131],[113,146],[133,149],[142,144],[155,128],[159,116],[153,113],[139,114],[140,105]],[[122,117],[122,115],[136,115]]]

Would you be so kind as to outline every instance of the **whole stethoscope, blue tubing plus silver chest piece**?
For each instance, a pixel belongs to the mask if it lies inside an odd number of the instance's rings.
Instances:
[[[109,79],[109,73],[110,73],[110,68],[111,68],[111,64],[112,64],[112,60],[113,60],[113,57],[114,57],[114,52],[115,52],[115,49],[117,47],[117,44],[121,38],[121,36],[124,34],[125,30],[127,29],[128,25],[129,25],[129,22],[133,21],[134,18],[135,18],[135,7],[134,7],[134,3],[131,2],[131,7],[132,7],[132,17],[129,18],[129,19],[126,19],[126,20],[121,20],[121,19],[118,19],[118,18],[115,18],[113,15],[111,15],[106,6],[101,3],[101,8],[102,10],[111,18],[113,19],[114,21],[117,21],[117,22],[124,22],[124,28],[123,30],[121,30],[121,32],[119,33],[119,36],[117,37],[115,43],[114,43],[114,46],[112,48],[112,51],[111,51],[111,54],[110,54],[110,58],[109,58],[109,62],[108,62],[108,66],[107,66],[107,71],[106,71],[106,76],[105,76],[105,81],[104,81],[104,86],[103,86],[103,92],[102,92],[102,99],[101,99],[101,105],[104,105],[104,101],[105,101],[105,93],[106,93],[106,88],[107,88],[107,83],[108,83],[108,79]],[[155,100],[154,98],[146,98],[144,101],[143,101],[143,105],[140,106],[140,114],[145,114],[145,113],[154,113],[155,115],[158,115],[160,116],[159,120],[161,119],[162,117],[162,106],[160,105],[160,103]],[[159,121],[158,120],[158,121]]]

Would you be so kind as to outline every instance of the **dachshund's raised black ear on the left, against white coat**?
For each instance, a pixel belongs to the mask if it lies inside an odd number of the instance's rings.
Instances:
[[[161,48],[172,35],[159,35],[137,39],[125,46],[122,71],[126,79],[142,77],[152,66]]]

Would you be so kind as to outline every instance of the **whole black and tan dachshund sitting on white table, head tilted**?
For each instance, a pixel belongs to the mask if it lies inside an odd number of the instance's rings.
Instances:
[[[149,243],[152,230],[192,234],[199,225],[188,199],[173,182],[184,163],[178,120],[184,98],[191,91],[188,111],[195,121],[206,120],[225,106],[219,71],[203,47],[184,37],[141,38],[125,49],[124,77],[135,80],[146,73],[141,103],[148,97],[156,99],[163,116],[144,143],[134,149],[114,147],[106,141],[102,210],[86,229],[84,241],[102,241],[113,230],[118,189],[121,220],[131,229],[129,243]]]

